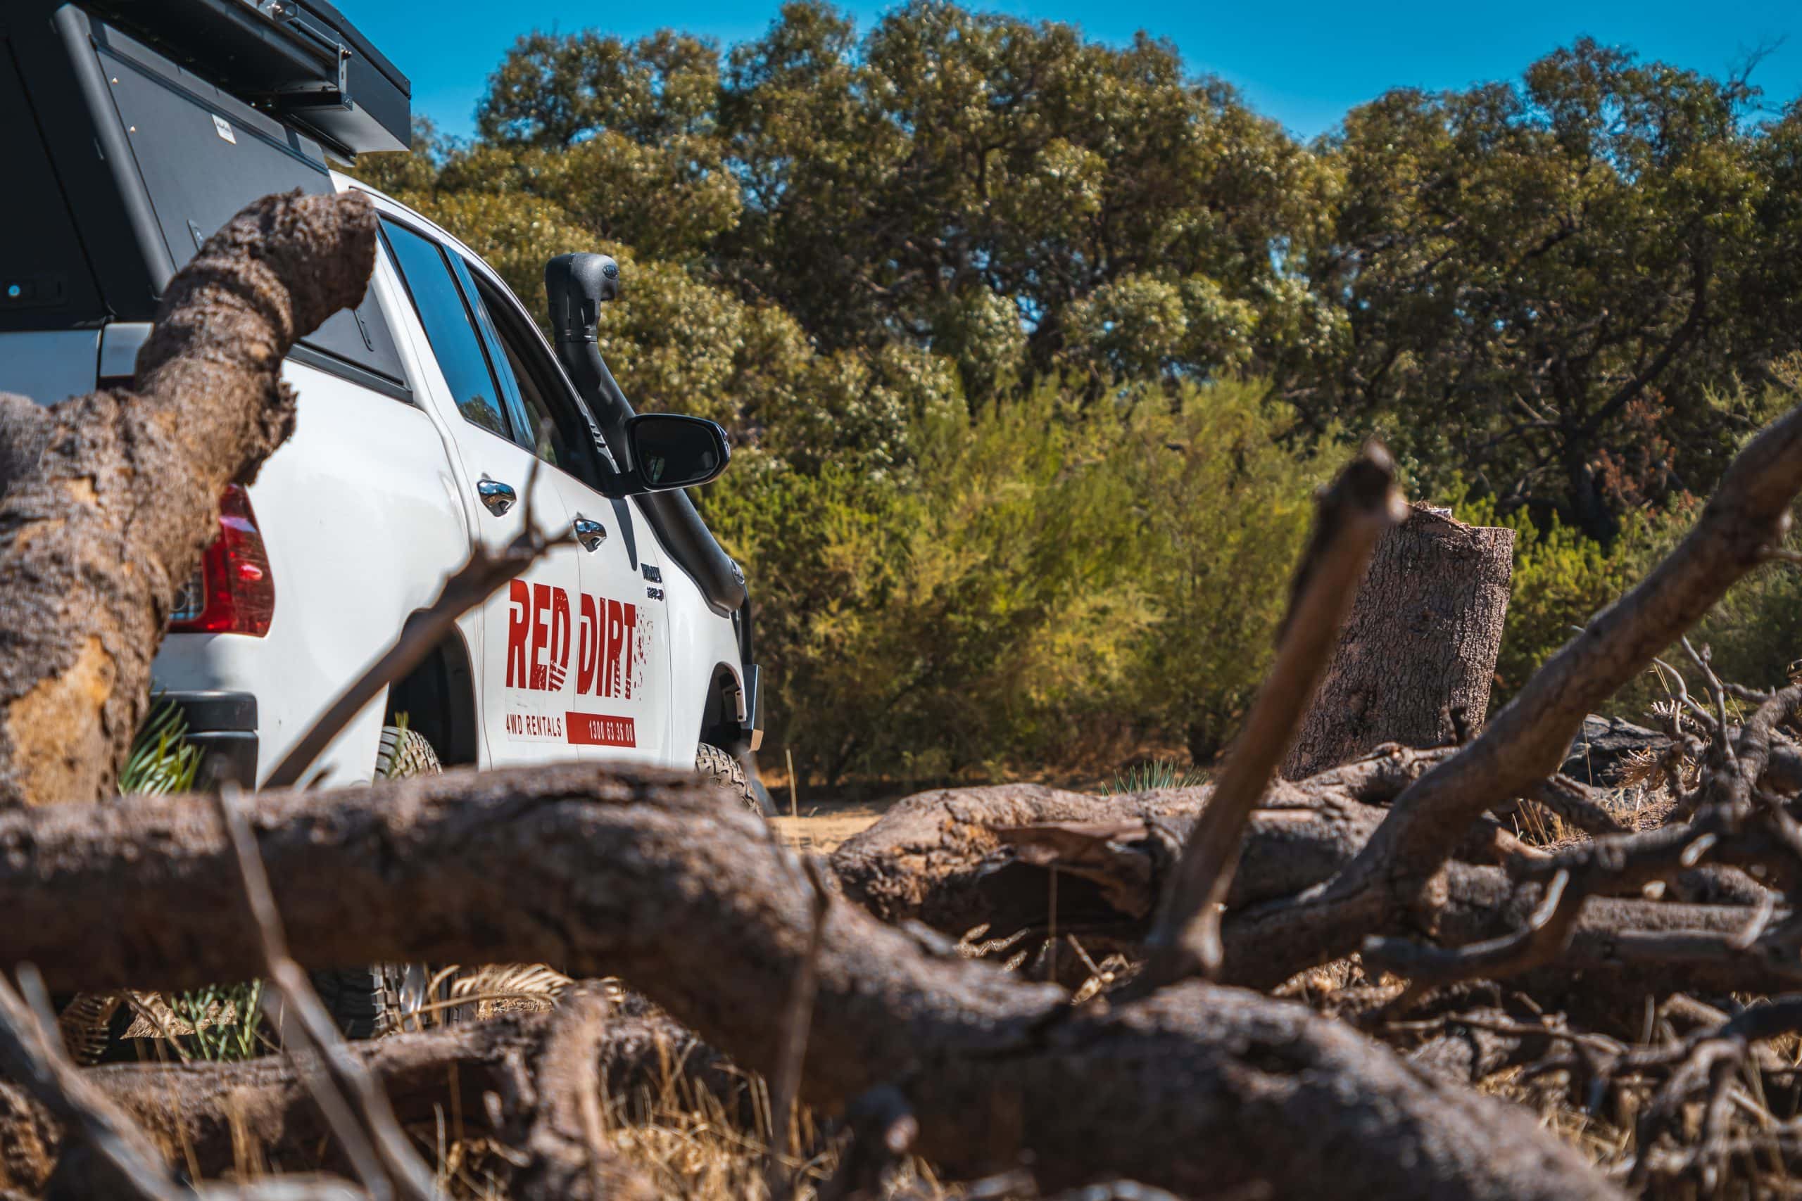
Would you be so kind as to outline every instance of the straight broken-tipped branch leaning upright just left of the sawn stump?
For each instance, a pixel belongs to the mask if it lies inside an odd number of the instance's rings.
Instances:
[[[1321,493],[1314,537],[1290,589],[1276,663],[1164,889],[1146,938],[1150,960],[1128,987],[1133,996],[1197,972],[1213,978],[1220,969],[1220,904],[1233,884],[1245,823],[1308,713],[1377,538],[1406,515],[1395,486],[1395,461],[1375,441]]]

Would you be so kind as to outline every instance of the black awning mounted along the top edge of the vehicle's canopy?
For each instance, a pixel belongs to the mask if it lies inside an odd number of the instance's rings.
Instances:
[[[79,0],[341,155],[407,149],[413,85],[326,0]]]

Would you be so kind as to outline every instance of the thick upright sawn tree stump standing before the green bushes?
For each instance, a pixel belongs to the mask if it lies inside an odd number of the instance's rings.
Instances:
[[[1305,780],[1384,742],[1445,745],[1460,720],[1479,726],[1512,573],[1512,529],[1415,506],[1384,533],[1283,776]]]

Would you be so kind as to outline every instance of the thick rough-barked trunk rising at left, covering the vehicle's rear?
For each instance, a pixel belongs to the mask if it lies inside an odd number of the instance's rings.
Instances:
[[[373,265],[359,193],[267,196],[169,283],[135,393],[0,394],[0,803],[112,792],[220,492],[294,429],[281,360]]]

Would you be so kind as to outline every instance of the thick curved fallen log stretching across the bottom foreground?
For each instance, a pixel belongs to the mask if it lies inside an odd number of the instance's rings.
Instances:
[[[687,776],[593,767],[270,792],[250,812],[297,958],[546,960],[618,972],[757,1071],[800,969],[813,889],[753,816]],[[0,960],[56,989],[191,987],[261,962],[213,807],[0,816]],[[31,853],[18,853],[31,848]],[[103,911],[103,913],[101,913]],[[1321,1179],[1389,1197],[1616,1196],[1505,1104],[1438,1086],[1299,1005],[1189,983],[1112,1012],[926,954],[831,908],[804,1098],[899,1086],[921,1154],[960,1178],[1029,1156],[1047,1188],[1179,1192]]]

